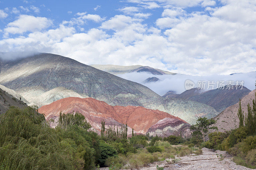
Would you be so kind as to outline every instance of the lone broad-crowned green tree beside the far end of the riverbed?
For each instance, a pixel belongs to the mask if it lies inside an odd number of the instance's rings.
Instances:
[[[205,136],[209,133],[209,129],[218,130],[218,128],[216,126],[212,126],[215,123],[216,123],[216,121],[214,119],[207,119],[206,117],[199,117],[196,121],[196,124],[192,125],[190,127],[190,129],[193,130],[193,133],[199,133],[201,136],[203,136],[203,139],[205,142]]]

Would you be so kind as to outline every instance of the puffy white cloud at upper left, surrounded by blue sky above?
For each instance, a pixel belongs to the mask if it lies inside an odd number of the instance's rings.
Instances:
[[[31,15],[20,15],[19,18],[4,29],[6,34],[40,31],[52,25],[52,20],[45,17],[34,17]]]

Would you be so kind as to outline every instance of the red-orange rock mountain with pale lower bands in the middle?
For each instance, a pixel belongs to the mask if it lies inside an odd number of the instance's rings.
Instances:
[[[179,120],[176,123],[170,123],[173,134],[180,133],[180,129],[188,130],[190,125],[179,117],[172,116],[166,112],[159,110],[146,109],[144,107],[135,106],[110,106],[106,102],[93,98],[68,97],[57,100],[49,105],[45,105],[38,109],[39,113],[45,115],[45,119],[56,120],[62,113],[80,112],[86,120],[90,122],[92,127],[100,131],[101,120],[104,120],[107,126],[120,126],[121,123],[133,128],[137,133],[146,134],[148,129],[164,118],[172,118],[170,121]],[[164,122],[166,124],[166,121]],[[54,125],[53,125],[54,126]],[[185,127],[184,127],[185,126]],[[128,132],[131,132],[129,128]],[[181,132],[183,133],[183,132]]]

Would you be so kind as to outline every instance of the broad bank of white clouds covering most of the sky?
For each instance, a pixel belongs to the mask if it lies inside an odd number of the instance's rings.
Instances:
[[[77,13],[76,18],[63,21],[51,30],[40,24],[29,26],[30,22],[24,25],[18,18],[6,26],[4,33],[31,33],[0,40],[0,51],[33,49],[71,57],[85,64],[141,64],[190,75],[256,70],[254,1],[221,0],[220,7],[208,6],[207,12],[192,13],[183,10],[189,6],[201,8],[210,1],[132,1],[141,11],[107,20],[99,15]],[[164,7],[159,8],[162,15],[155,23],[147,24],[144,20],[148,17],[144,12],[149,9],[142,5],[148,2]],[[100,26],[84,30],[82,25],[87,20]],[[24,28],[22,24],[29,27]],[[83,33],[77,33],[79,30]]]

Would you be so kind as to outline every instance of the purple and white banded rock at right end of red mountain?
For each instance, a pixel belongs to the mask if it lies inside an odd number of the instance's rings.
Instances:
[[[170,135],[181,135],[182,137],[188,137],[191,134],[190,124],[185,123],[178,119],[164,118],[152,125],[148,132],[149,135],[166,137]]]

